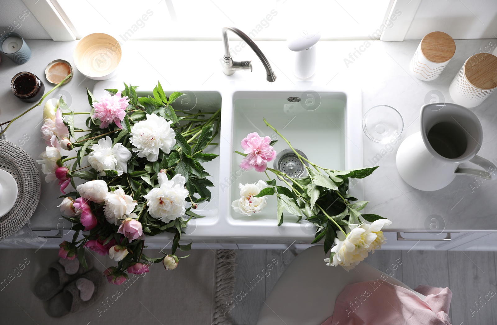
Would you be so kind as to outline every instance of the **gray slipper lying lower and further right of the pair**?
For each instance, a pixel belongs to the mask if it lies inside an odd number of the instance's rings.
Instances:
[[[47,314],[62,317],[90,307],[103,295],[105,282],[103,273],[96,269],[84,273],[48,302]]]

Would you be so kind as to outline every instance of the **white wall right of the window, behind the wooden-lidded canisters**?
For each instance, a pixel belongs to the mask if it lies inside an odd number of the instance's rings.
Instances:
[[[497,0],[422,0],[405,39],[442,31],[454,39],[497,38]]]

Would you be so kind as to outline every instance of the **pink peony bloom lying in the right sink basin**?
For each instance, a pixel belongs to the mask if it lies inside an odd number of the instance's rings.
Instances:
[[[269,145],[271,138],[261,138],[257,132],[248,134],[247,138],[242,140],[242,149],[247,154],[240,163],[240,168],[250,170],[252,167],[258,172],[262,172],[267,168],[267,162],[272,161],[276,157],[276,152]]]

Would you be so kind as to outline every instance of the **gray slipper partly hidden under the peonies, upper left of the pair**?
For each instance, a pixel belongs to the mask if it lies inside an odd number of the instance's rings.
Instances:
[[[53,262],[45,274],[35,285],[34,294],[42,301],[47,301],[71,281],[78,278],[93,268],[93,260],[86,256],[88,268],[85,269],[78,259],[68,260],[60,258],[58,262]]]

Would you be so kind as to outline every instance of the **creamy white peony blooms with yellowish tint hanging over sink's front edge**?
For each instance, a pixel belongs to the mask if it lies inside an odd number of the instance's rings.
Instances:
[[[368,252],[385,244],[381,229],[392,222],[379,219],[371,224],[350,225],[347,237],[341,232],[336,233],[334,246],[331,248],[332,260],[325,258],[326,265],[342,266],[347,271],[354,268],[368,256]]]

